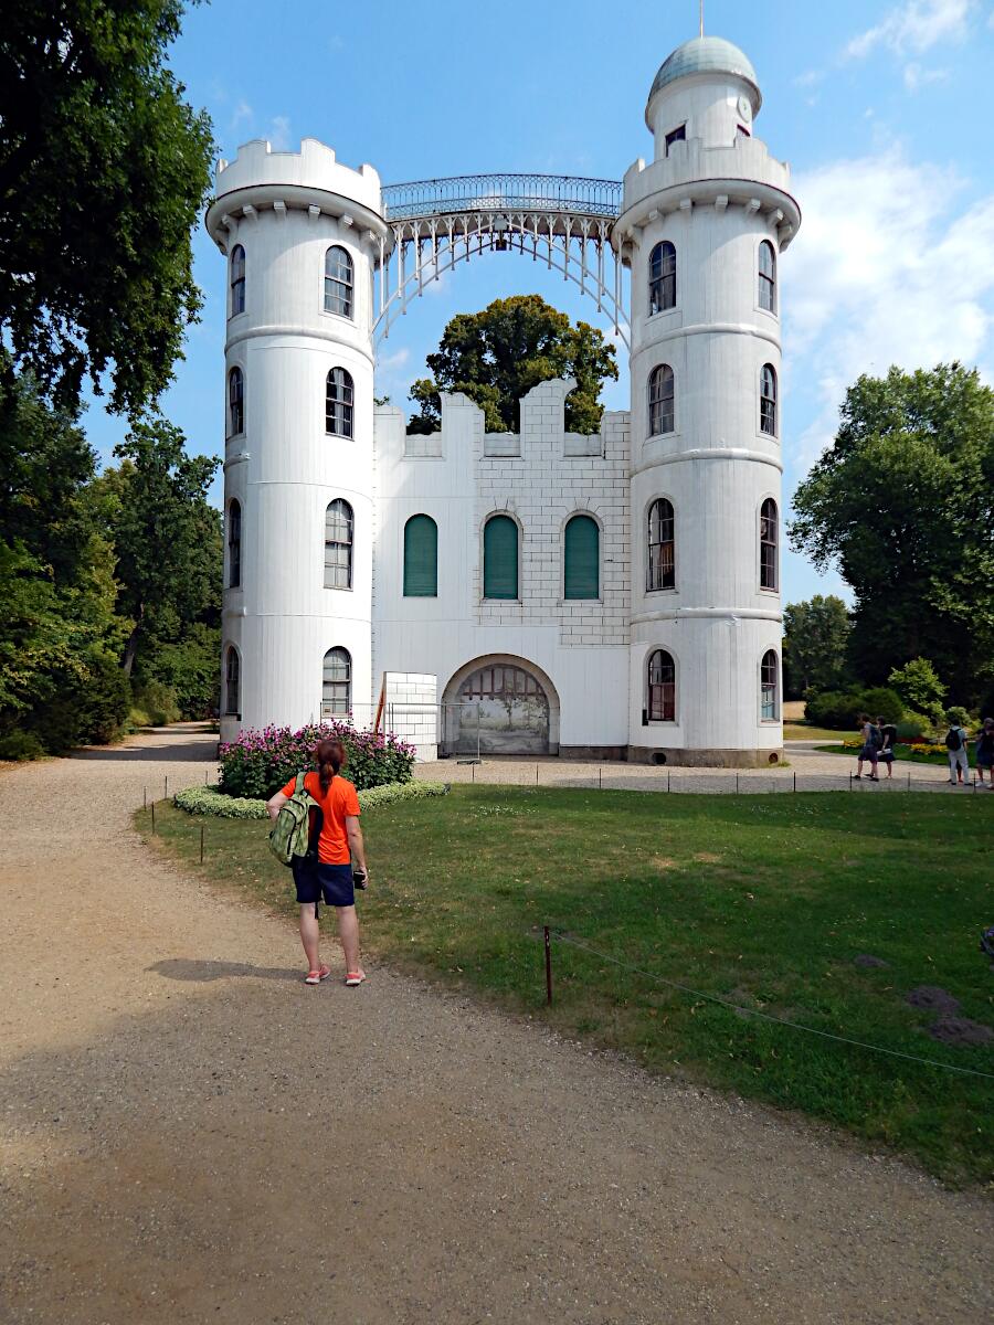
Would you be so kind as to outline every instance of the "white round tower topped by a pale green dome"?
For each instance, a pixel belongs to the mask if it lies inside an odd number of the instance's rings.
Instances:
[[[755,138],[762,97],[728,41],[685,42],[624,178],[632,273],[631,722],[636,759],[751,766],[782,750],[781,281],[801,224]]]

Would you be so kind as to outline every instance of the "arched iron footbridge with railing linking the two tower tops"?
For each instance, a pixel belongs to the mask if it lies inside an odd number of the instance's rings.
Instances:
[[[622,262],[611,248],[620,205],[620,180],[574,175],[457,175],[384,186],[390,237],[379,241],[374,333],[388,335],[410,299],[459,262],[520,253],[594,298],[628,346]]]

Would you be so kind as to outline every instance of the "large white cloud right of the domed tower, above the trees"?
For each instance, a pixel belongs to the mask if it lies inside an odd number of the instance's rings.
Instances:
[[[794,448],[802,472],[831,441],[860,372],[994,367],[994,193],[962,211],[962,187],[900,147],[797,176],[804,219],[785,257],[785,350],[820,400]]]

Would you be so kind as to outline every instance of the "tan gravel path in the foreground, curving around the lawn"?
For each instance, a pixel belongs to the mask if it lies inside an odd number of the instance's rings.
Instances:
[[[0,776],[5,1325],[991,1318],[977,1196],[375,963],[305,988],[130,831],[212,751]]]

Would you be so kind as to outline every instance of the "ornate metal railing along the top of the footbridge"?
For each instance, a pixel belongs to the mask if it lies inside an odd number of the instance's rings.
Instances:
[[[388,221],[500,211],[615,217],[620,205],[620,180],[575,175],[456,175],[383,188]]]

